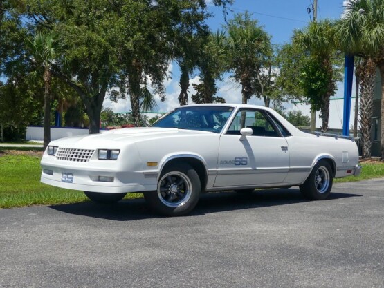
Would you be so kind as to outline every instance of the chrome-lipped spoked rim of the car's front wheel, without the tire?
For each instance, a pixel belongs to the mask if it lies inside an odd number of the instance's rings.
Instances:
[[[175,177],[177,180],[174,182],[178,182],[178,183],[169,183],[170,177]],[[185,187],[183,197],[176,202],[172,202],[172,198],[171,198],[171,200],[167,200],[161,193],[161,189],[163,188],[162,187],[163,181],[166,181],[167,184],[170,184],[168,186],[168,189],[167,189],[170,193],[175,193],[176,187],[177,187],[177,190],[179,190],[179,188],[181,188],[181,187]],[[190,181],[190,179],[187,175],[185,175],[184,173],[181,173],[179,171],[172,171],[172,172],[166,173],[158,181],[157,194],[158,194],[158,199],[165,206],[171,207],[171,208],[181,207],[186,202],[188,202],[188,200],[190,200],[190,197],[192,195],[192,182]]]

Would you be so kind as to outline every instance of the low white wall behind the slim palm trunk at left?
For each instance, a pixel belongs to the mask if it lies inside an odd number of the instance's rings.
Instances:
[[[83,134],[88,134],[88,128],[51,127],[51,140]],[[26,140],[44,140],[43,127],[29,126],[27,128]]]

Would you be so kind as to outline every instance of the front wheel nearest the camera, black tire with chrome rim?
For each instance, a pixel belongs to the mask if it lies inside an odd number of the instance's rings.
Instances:
[[[199,201],[201,182],[199,175],[187,163],[172,164],[161,172],[157,191],[144,193],[154,211],[166,216],[185,215]]]

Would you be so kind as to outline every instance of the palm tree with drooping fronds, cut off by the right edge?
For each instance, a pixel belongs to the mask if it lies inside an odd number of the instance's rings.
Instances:
[[[338,22],[340,41],[349,54],[370,57],[381,76],[381,160],[384,160],[384,1],[349,0]]]

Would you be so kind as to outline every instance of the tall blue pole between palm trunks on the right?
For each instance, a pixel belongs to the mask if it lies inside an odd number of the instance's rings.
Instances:
[[[352,83],[354,79],[354,56],[345,55],[344,61],[344,113],[342,116],[342,135],[349,136],[351,115]]]

